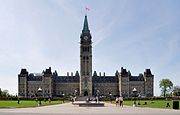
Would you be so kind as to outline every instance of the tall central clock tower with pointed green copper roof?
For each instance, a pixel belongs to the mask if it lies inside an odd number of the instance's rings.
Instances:
[[[80,36],[80,96],[92,96],[92,41],[87,16]]]

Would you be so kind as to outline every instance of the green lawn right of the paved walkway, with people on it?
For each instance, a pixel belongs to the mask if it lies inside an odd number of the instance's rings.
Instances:
[[[140,103],[140,105],[138,105],[138,102]],[[147,102],[147,104],[145,105],[145,102]],[[150,108],[170,108],[172,109],[173,107],[173,101],[168,101],[170,103],[170,107],[166,107],[166,103],[167,101],[165,100],[136,100],[136,105],[137,107],[150,107]],[[115,104],[115,102],[113,101],[113,103]],[[132,106],[134,103],[133,100],[125,100],[123,102],[124,105],[128,105],[128,106]],[[180,103],[179,103],[179,107],[180,107]]]

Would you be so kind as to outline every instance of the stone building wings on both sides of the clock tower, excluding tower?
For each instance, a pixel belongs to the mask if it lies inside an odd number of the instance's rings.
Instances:
[[[37,93],[38,88],[42,88],[44,96],[72,96],[80,94],[80,77],[78,73],[73,76],[52,76],[47,70],[44,73],[28,74],[22,70],[18,75],[18,95],[23,97],[31,97]],[[133,96],[132,90],[136,88],[137,94],[141,96],[152,97],[154,95],[154,75],[150,70],[146,70],[144,74],[139,76],[131,76],[130,72],[122,69],[120,73],[116,72],[115,76],[97,76],[92,77],[92,91],[96,95],[113,96],[121,95],[123,97]]]

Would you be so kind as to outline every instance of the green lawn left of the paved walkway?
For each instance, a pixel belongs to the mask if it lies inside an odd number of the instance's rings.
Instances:
[[[15,108],[15,107],[37,107],[39,102],[36,102],[34,100],[20,100],[20,103],[18,104],[17,101],[14,100],[0,100],[0,108]],[[48,101],[44,102],[42,101],[42,106],[46,105],[54,105],[54,104],[60,104],[61,101],[51,101],[49,103]]]

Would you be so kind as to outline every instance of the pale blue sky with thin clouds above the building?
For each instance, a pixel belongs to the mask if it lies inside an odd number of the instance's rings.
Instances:
[[[0,0],[0,88],[17,94],[21,68],[59,75],[80,70],[85,8],[93,40],[93,71],[121,67],[180,84],[179,0]]]

